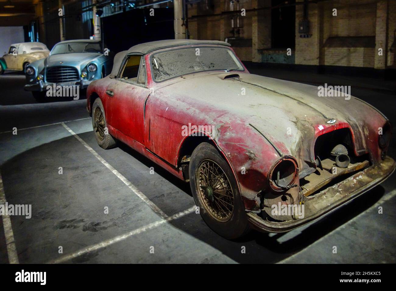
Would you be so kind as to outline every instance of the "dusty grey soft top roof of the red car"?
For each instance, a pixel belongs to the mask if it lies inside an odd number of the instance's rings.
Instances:
[[[155,42],[145,42],[143,44],[137,44],[129,48],[126,51],[120,51],[114,56],[113,69],[110,76],[114,77],[118,74],[120,66],[125,56],[130,53],[140,53],[145,55],[151,51],[162,48],[171,48],[174,46],[189,46],[194,44],[219,44],[223,46],[230,46],[227,42],[222,42],[220,40],[156,40]]]

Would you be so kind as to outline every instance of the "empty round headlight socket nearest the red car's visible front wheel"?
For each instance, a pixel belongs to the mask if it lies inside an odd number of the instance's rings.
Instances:
[[[284,191],[293,184],[297,177],[297,162],[293,157],[280,158],[271,168],[268,181],[275,191]]]

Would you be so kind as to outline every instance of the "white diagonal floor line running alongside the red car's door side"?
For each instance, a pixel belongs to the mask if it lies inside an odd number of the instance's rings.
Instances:
[[[161,218],[165,219],[168,217],[157,205],[155,205],[150,199],[145,196],[135,185],[133,185],[126,177],[124,177],[119,171],[114,169],[112,165],[105,161],[93,148],[91,148],[85,141],[83,141],[74,131],[70,129],[69,126],[62,122],[63,127],[67,129],[82,145],[84,145],[90,152],[93,154],[103,165],[105,165],[110,171],[113,172],[114,175],[118,177],[124,184],[126,184],[129,189],[131,189],[141,200],[143,200],[152,210],[154,210]]]

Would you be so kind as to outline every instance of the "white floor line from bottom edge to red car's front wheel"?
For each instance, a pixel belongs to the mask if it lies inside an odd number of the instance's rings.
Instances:
[[[183,217],[189,213],[192,213],[196,210],[196,206],[193,206],[185,211],[179,212],[175,215],[172,215],[170,217],[167,217],[166,219],[161,219],[159,221],[155,221],[153,223],[150,223],[146,226],[142,226],[141,228],[137,228],[135,230],[132,230],[130,232],[127,232],[126,234],[122,234],[120,236],[116,236],[114,238],[110,238],[109,240],[104,240],[103,242],[96,243],[94,245],[90,245],[89,247],[85,247],[84,249],[80,249],[79,251],[76,251],[75,253],[72,253],[70,255],[65,255],[63,257],[60,257],[59,259],[55,259],[52,261],[49,261],[47,264],[58,264],[62,262],[67,262],[71,259],[74,259],[76,257],[79,257],[81,255],[84,255],[86,253],[96,251],[98,249],[102,249],[103,247],[107,247],[109,245],[112,245],[113,243],[120,242],[122,240],[125,240],[126,238],[129,238],[135,234],[140,234],[141,232],[145,232],[146,230],[149,230],[151,228],[157,227],[161,224],[168,223],[169,221],[178,219],[180,217]]]

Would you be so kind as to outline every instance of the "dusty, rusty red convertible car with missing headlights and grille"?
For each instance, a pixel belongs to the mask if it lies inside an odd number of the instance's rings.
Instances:
[[[163,40],[118,53],[87,109],[102,148],[121,141],[189,182],[234,239],[321,219],[392,174],[388,119],[336,93],[250,74],[226,42]]]

